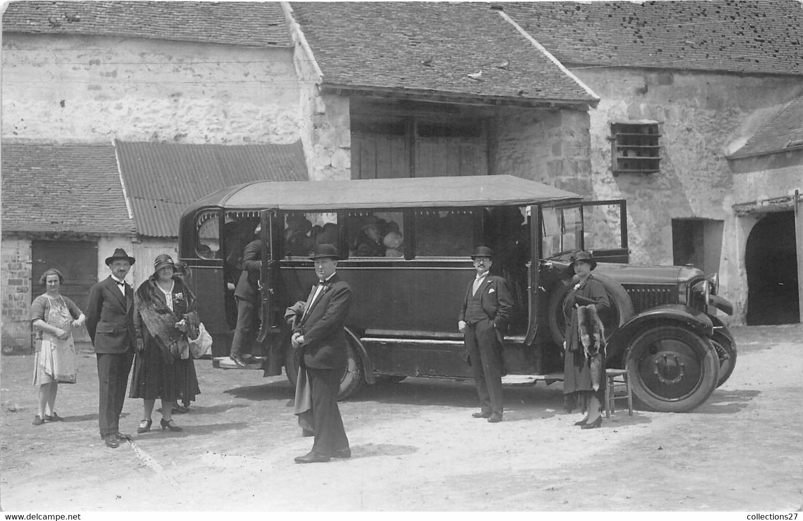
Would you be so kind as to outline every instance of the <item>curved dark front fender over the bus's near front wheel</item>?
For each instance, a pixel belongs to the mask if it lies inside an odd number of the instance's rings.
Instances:
[[[706,313],[681,304],[657,305],[630,318],[608,337],[608,349],[605,357],[608,366],[618,366],[622,353],[626,351],[630,341],[638,333],[648,329],[650,325],[658,324],[685,325],[695,333],[707,338],[711,338],[711,335],[714,334],[714,324]]]

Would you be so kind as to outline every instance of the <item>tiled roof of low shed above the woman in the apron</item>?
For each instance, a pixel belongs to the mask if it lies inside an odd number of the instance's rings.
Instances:
[[[133,234],[114,147],[3,143],[2,228]]]

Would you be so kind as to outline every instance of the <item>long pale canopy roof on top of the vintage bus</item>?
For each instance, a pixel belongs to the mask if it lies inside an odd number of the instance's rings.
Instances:
[[[187,208],[430,208],[501,206],[581,200],[566,192],[520,177],[450,176],[344,181],[255,181],[224,188]]]

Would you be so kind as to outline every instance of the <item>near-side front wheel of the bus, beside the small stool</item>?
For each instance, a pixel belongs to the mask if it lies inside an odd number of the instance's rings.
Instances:
[[[706,338],[678,325],[639,335],[625,354],[633,394],[652,410],[684,413],[705,402],[719,381],[719,357]]]

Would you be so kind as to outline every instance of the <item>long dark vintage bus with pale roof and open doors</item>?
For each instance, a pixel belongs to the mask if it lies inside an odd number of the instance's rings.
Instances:
[[[471,377],[457,316],[474,277],[470,255],[480,244],[494,250],[491,273],[506,279],[514,298],[504,382],[560,380],[562,301],[573,285],[569,257],[580,249],[599,261],[594,273],[612,302],[603,317],[606,364],[629,371],[642,404],[692,410],[736,362],[736,343],[716,317],[717,309],[732,313],[716,294],[716,274],[627,264],[625,201],[585,201],[499,175],[256,181],[196,201],[181,216],[179,256],[192,269],[190,286],[218,367],[236,367],[226,357],[236,323],[234,285],[257,224],[264,248],[254,353],[265,375],[284,367],[295,383],[298,358],[284,310],[305,300],[316,282],[308,260],[314,244],[340,252],[337,272],[353,291],[341,399],[379,380]],[[361,248],[366,233],[381,247]]]

